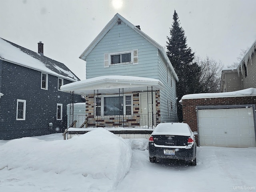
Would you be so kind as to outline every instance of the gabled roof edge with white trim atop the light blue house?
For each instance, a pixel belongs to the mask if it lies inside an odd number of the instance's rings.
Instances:
[[[158,50],[162,54],[164,60],[169,64],[169,67],[171,68],[172,73],[174,74],[176,80],[178,81],[179,80],[178,76],[177,76],[176,72],[174,71],[174,68],[173,68],[168,56],[166,55],[164,48],[162,46],[160,46],[157,42],[152,40],[148,35],[146,35],[144,32],[142,32],[140,29],[138,29],[136,26],[134,26],[132,23],[130,23],[128,20],[126,20],[124,17],[122,17],[118,13],[112,18],[112,20],[110,20],[110,22],[108,22],[108,24],[104,27],[104,29],[100,32],[100,34],[98,34],[98,36],[92,41],[92,43],[86,48],[86,50],[84,50],[84,52],[80,55],[79,58],[82,60],[86,60],[86,57],[88,56],[88,54],[90,54],[90,52],[95,48],[95,46],[100,42],[100,40],[102,40],[102,38],[108,33],[108,31],[116,24],[118,19],[120,19],[127,26],[132,28],[134,31],[136,31],[138,34],[140,34],[146,40],[148,40],[151,44],[153,44],[156,48],[158,48]]]

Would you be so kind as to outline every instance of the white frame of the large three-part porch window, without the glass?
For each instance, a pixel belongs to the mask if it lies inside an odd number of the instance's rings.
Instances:
[[[125,116],[130,116],[130,115],[133,115],[133,96],[132,96],[132,94],[122,94],[122,95],[120,95],[120,96],[122,96],[123,97],[123,99],[124,99],[124,103],[123,103],[123,112],[124,112],[124,115]],[[130,115],[126,115],[126,96],[131,96],[131,104],[130,105],[127,105],[127,106],[131,106],[131,114]],[[100,96],[94,96],[94,105],[95,105],[95,107],[94,107],[94,114],[95,114],[95,116],[96,116],[96,108],[97,107],[100,107],[100,116],[105,116],[104,115],[104,98],[106,98],[106,97],[119,97],[119,95],[118,94],[114,94],[114,95],[100,95]],[[101,105],[100,106],[97,106],[96,107],[96,98],[100,98],[100,102],[101,102]],[[108,115],[106,115],[106,116],[108,116]],[[116,115],[116,116],[118,116],[118,115]]]

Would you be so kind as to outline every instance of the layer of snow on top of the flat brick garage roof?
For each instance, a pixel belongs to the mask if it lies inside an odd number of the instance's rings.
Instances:
[[[256,96],[256,88],[248,88],[239,91],[224,92],[224,93],[198,93],[184,95],[179,102],[185,99],[201,99],[201,98],[224,98],[224,97],[247,97]]]

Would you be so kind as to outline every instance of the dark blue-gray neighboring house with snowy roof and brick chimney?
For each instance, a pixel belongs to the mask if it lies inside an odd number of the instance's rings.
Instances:
[[[78,80],[63,63],[44,56],[42,42],[36,53],[0,38],[0,140],[63,132],[70,94],[60,86]]]

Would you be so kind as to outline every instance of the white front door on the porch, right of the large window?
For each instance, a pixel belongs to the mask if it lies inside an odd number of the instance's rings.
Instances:
[[[153,92],[153,115],[156,115],[156,95]],[[156,126],[156,119],[154,126]],[[152,94],[151,92],[140,93],[140,126],[152,126]]]

